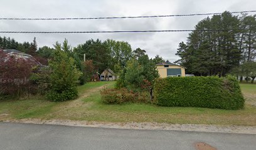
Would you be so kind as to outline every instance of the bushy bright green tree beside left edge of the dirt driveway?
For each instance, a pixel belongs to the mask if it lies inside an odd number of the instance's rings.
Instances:
[[[69,58],[67,53],[57,50],[53,54],[53,59],[49,62],[50,91],[46,97],[51,101],[66,101],[77,97],[77,84],[81,73],[75,66],[73,58]]]

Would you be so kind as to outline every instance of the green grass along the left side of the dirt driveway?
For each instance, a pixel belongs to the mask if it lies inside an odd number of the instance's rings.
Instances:
[[[113,82],[87,83],[78,86],[78,94],[81,95],[88,89],[114,84]],[[70,102],[70,101],[68,101]],[[67,102],[64,102],[67,103]],[[53,113],[53,108],[61,105],[61,102],[47,101],[42,96],[31,96],[27,99],[0,101],[0,114],[11,114],[10,116],[0,116],[1,119],[21,119],[21,118],[45,118],[47,114]]]

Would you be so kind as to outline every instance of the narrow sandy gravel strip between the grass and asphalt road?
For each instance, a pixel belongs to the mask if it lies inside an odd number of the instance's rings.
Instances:
[[[167,123],[105,123],[95,121],[71,121],[61,119],[17,119],[5,120],[6,123],[51,124],[112,129],[146,129],[172,131],[198,131],[208,133],[256,134],[256,126],[216,126],[208,124],[167,124]]]

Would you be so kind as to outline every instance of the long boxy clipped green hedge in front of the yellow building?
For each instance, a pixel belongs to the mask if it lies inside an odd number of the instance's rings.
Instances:
[[[240,109],[245,102],[237,79],[231,76],[159,78],[154,96],[159,106]]]

